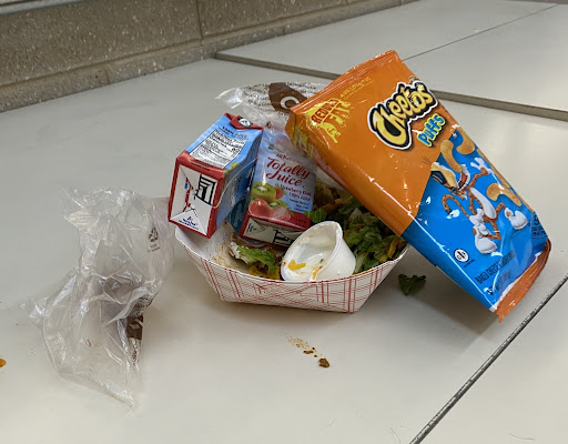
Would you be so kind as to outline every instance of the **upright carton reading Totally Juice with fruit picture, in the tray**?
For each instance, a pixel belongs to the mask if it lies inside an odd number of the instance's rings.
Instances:
[[[261,142],[248,199],[241,200],[229,222],[236,232],[256,241],[290,245],[311,221],[315,165],[286,139]]]

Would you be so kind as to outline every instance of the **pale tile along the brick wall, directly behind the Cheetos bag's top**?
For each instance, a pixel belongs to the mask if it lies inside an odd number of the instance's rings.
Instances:
[[[403,59],[413,58],[515,22],[552,3],[419,0],[220,54],[341,74],[389,49]]]

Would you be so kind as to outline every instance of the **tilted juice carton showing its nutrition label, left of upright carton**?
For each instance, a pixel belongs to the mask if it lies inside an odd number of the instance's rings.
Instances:
[[[172,223],[206,238],[245,195],[263,130],[224,114],[175,160],[170,194]]]

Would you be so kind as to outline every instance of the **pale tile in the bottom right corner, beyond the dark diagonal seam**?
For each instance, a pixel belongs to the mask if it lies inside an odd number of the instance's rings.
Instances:
[[[565,443],[567,312],[564,285],[424,443]]]

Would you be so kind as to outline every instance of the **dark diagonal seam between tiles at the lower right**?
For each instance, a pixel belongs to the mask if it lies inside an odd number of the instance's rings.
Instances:
[[[481,366],[466,381],[466,383],[456,392],[454,396],[434,415],[434,417],[418,432],[409,444],[419,444],[438,425],[446,414],[457,404],[457,402],[467,393],[469,389],[483,376],[489,366],[500,356],[500,354],[510,345],[510,343],[525,330],[525,327],[535,319],[535,316],[545,307],[560,287],[568,281],[566,274],[560,282],[540,301],[540,303],[528,314],[527,317],[513,331],[513,333],[503,342],[499,347],[485,361]]]

